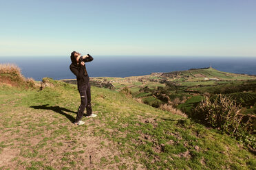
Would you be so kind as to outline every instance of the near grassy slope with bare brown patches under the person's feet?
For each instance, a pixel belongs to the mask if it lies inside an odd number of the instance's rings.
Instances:
[[[0,169],[253,169],[226,134],[92,87],[98,117],[74,126],[75,85],[42,91],[0,85]]]

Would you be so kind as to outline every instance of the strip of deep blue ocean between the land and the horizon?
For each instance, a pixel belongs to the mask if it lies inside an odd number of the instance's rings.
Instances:
[[[256,57],[185,56],[93,56],[87,62],[89,77],[127,77],[153,72],[182,71],[210,65],[219,71],[256,75]],[[0,57],[0,63],[17,64],[25,77],[42,80],[76,78],[70,71],[70,56]]]

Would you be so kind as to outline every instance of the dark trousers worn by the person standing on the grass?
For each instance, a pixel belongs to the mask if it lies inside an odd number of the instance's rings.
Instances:
[[[76,121],[81,121],[83,117],[83,112],[86,108],[86,115],[89,116],[92,114],[92,106],[91,106],[91,84],[89,82],[87,84],[83,84],[81,86],[78,86],[78,90],[81,97],[81,105],[78,108]]]

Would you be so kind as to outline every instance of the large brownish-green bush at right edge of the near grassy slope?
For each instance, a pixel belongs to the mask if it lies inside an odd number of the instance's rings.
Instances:
[[[244,122],[244,114],[240,114],[241,109],[242,106],[237,104],[231,97],[217,95],[214,99],[205,97],[192,112],[194,114],[193,117],[222,132],[226,132],[226,134],[256,149],[256,138],[253,136],[255,130],[252,130],[252,120],[248,119]]]

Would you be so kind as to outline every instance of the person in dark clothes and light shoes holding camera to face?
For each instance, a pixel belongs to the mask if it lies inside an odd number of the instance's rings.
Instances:
[[[89,84],[89,76],[86,71],[85,62],[91,62],[94,60],[92,56],[87,54],[86,56],[81,56],[81,53],[73,51],[70,56],[71,64],[70,71],[76,75],[77,87],[81,96],[81,105],[78,108],[75,125],[83,125],[85,122],[82,121],[83,112],[86,108],[85,117],[96,117],[96,114],[92,113],[91,106],[91,85]]]

